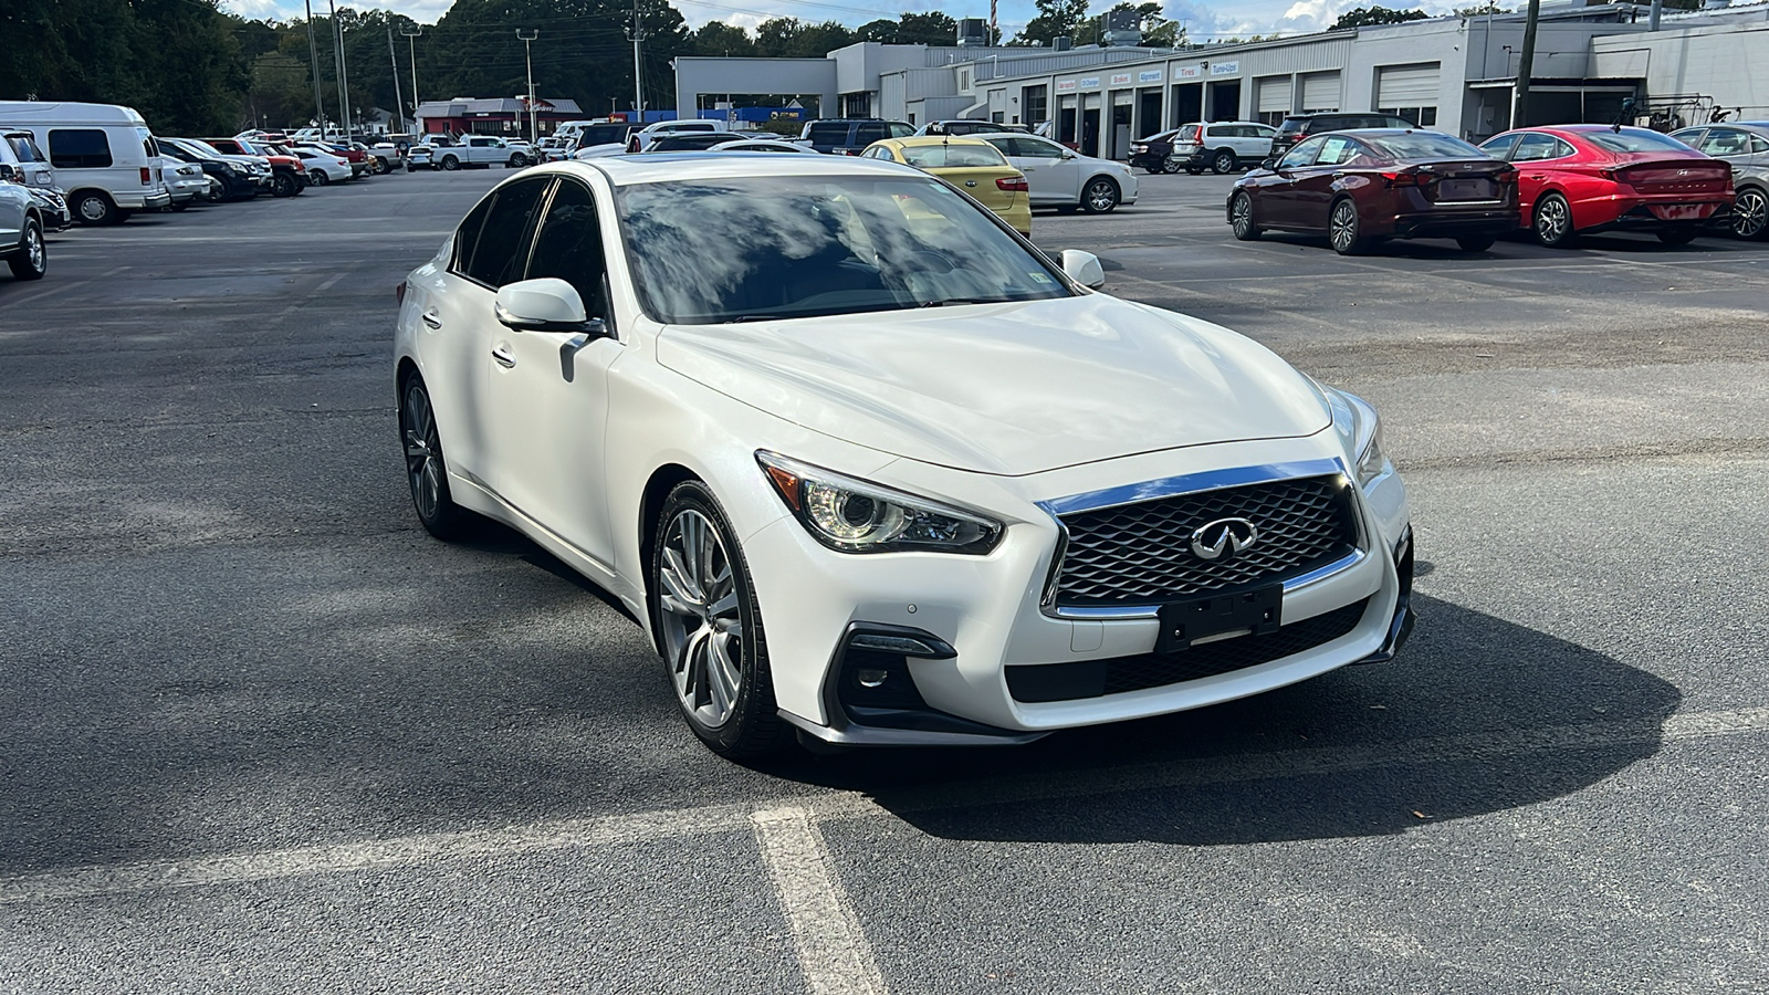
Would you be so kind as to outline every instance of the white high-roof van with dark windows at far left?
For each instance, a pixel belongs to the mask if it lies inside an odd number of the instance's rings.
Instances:
[[[81,225],[117,225],[172,204],[147,120],[133,108],[0,101],[0,131],[27,131],[50,154],[55,181]]]

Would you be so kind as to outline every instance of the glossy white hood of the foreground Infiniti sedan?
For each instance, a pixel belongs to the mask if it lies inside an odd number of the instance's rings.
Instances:
[[[826,436],[1008,476],[1330,423],[1265,347],[1106,294],[669,326],[658,361]]]

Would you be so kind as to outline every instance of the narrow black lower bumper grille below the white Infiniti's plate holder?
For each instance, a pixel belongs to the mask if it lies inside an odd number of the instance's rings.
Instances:
[[[1007,689],[1015,701],[1076,701],[1166,687],[1293,657],[1348,636],[1364,618],[1369,598],[1304,618],[1267,636],[1237,636],[1173,653],[1143,653],[1114,660],[1010,666]]]

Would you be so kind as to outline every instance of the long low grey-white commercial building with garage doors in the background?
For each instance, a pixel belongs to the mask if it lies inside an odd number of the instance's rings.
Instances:
[[[1716,106],[1769,119],[1769,4],[1666,12],[1635,4],[1543,4],[1530,120],[1684,124]],[[808,94],[823,117],[922,124],[953,117],[1053,122],[1084,152],[1123,158],[1134,136],[1189,120],[1281,120],[1298,112],[1390,112],[1481,140],[1512,126],[1523,14],[1189,50],[853,44],[826,58],[678,58],[678,113],[713,97]],[[1626,104],[1624,101],[1633,101]]]

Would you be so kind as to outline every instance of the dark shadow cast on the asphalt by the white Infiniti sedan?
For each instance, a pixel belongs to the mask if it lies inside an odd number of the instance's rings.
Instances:
[[[1399,660],[1022,749],[853,752],[782,775],[950,839],[1233,845],[1387,836],[1544,802],[1659,749],[1681,694],[1594,650],[1419,598]]]

